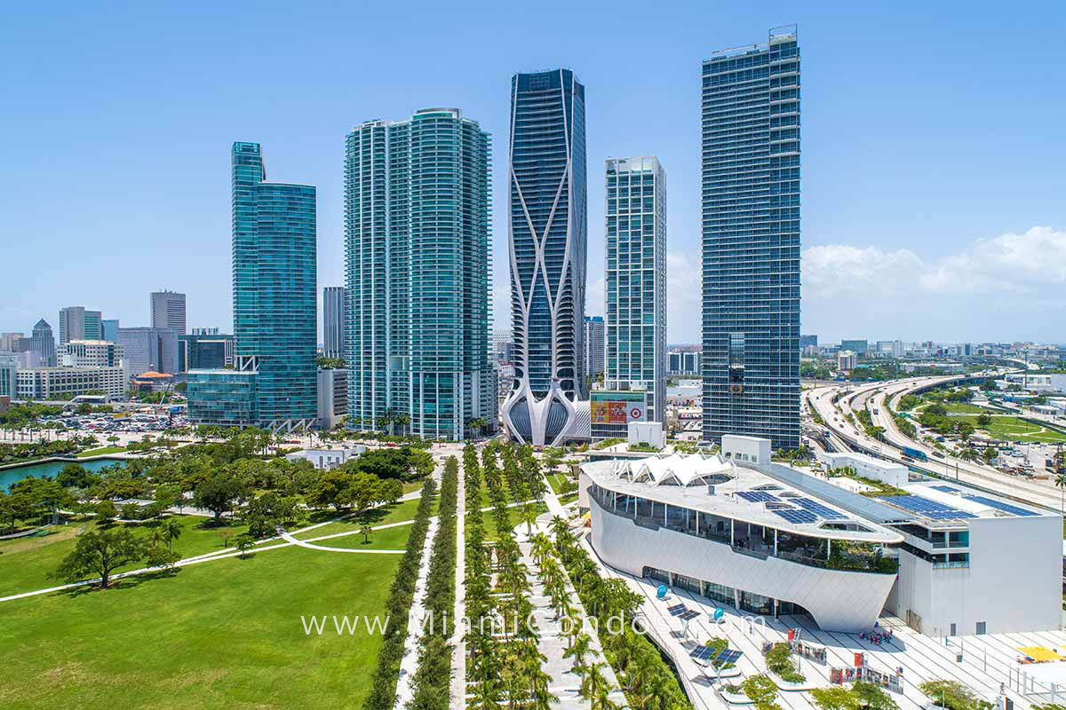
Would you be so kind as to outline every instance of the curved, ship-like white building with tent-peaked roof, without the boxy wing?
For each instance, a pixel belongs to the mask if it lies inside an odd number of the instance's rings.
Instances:
[[[613,567],[750,613],[873,628],[895,582],[894,561],[883,558],[903,535],[749,465],[676,455],[583,465],[593,548]]]

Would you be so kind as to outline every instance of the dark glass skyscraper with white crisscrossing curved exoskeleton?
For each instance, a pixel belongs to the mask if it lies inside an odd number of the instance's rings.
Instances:
[[[508,162],[515,380],[503,422],[521,442],[562,443],[587,395],[585,87],[572,71],[512,78]]]

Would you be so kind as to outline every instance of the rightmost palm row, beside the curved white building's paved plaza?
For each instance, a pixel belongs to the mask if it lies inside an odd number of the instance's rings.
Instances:
[[[630,707],[636,710],[691,710],[692,704],[678,684],[673,670],[659,649],[643,633],[633,630],[631,621],[642,598],[621,579],[603,579],[596,563],[578,543],[566,521],[554,517],[551,533],[555,552],[578,592],[578,597],[597,618],[604,655],[626,691]],[[609,620],[620,620],[612,621]],[[613,629],[619,628],[620,632]]]

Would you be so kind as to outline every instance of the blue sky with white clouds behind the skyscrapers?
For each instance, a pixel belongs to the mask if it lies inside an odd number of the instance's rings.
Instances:
[[[699,63],[796,22],[803,332],[1066,340],[1062,2],[461,4],[9,7],[0,330],[55,328],[68,304],[145,325],[164,287],[189,294],[190,327],[229,329],[238,139],[263,145],[271,179],[318,186],[319,285],[342,284],[344,134],[434,105],[492,134],[507,328],[508,80],[566,66],[586,86],[586,310],[602,310],[603,161],[656,154],[669,341],[698,341]]]

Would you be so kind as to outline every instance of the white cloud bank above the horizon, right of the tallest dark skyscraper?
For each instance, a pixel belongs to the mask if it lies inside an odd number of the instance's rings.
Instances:
[[[1033,227],[938,258],[834,244],[802,255],[803,332],[951,340],[1062,339],[1066,232]]]

